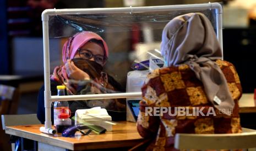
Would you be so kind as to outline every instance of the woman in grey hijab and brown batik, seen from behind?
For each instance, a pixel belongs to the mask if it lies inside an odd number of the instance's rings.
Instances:
[[[168,22],[161,54],[164,68],[148,74],[141,88],[137,129],[142,137],[152,138],[147,150],[175,150],[176,133],[242,132],[241,83],[232,63],[222,60],[214,28],[204,14],[184,14]],[[160,109],[156,116],[151,107],[171,107],[172,114],[161,114]],[[188,112],[175,114],[178,107]],[[204,114],[187,114],[196,108]],[[206,114],[209,109],[214,114]]]

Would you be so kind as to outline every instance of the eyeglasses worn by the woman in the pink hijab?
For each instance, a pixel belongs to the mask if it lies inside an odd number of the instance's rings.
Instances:
[[[100,65],[103,65],[107,61],[106,56],[93,55],[90,50],[78,49],[78,51],[79,51],[79,56],[82,59],[90,60],[92,57],[94,57],[95,62],[99,63]]]

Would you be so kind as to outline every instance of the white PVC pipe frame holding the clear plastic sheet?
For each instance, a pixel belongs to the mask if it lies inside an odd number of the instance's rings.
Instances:
[[[222,49],[222,6],[219,3],[188,4],[188,5],[163,5],[152,7],[126,7],[126,8],[92,8],[92,9],[46,9],[42,12],[43,27],[43,65],[45,82],[45,129],[51,128],[51,102],[69,101],[69,100],[94,100],[105,98],[130,98],[141,97],[141,92],[127,92],[116,94],[96,94],[96,95],[69,95],[69,96],[51,96],[50,86],[50,57],[49,57],[49,32],[48,20],[51,15],[66,14],[107,14],[107,13],[143,13],[149,11],[168,11],[168,10],[197,10],[197,9],[215,9],[217,39]],[[222,49],[223,57],[223,49]]]

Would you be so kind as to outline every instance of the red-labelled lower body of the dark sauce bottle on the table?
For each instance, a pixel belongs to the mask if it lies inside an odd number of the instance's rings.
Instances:
[[[56,130],[57,133],[62,133],[64,130],[68,129],[68,127],[71,126],[71,119],[69,119],[70,114],[65,113],[66,109],[62,109],[62,113],[58,115],[57,121],[56,121]]]

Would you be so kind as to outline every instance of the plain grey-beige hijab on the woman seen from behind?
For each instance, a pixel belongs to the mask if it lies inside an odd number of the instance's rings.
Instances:
[[[203,83],[208,100],[230,115],[235,103],[221,69],[214,62],[221,59],[221,48],[211,22],[201,13],[177,16],[162,32],[161,54],[165,65],[189,65]]]

